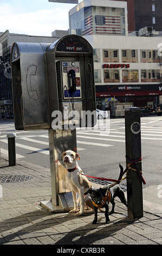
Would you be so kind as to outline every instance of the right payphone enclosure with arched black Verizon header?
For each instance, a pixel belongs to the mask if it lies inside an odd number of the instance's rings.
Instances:
[[[61,111],[63,118],[64,107],[68,107],[69,111],[79,112],[79,126],[87,126],[86,122],[81,124],[81,112],[96,110],[92,45],[79,35],[64,36],[47,48],[46,61],[50,124],[53,121],[53,111]],[[70,92],[68,84],[63,83],[63,76],[68,76],[70,70],[76,73],[74,93]],[[95,121],[92,120],[90,126],[94,126]]]

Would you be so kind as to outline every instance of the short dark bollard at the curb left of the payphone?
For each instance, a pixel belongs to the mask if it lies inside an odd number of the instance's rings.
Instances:
[[[16,147],[15,147],[16,133],[9,133],[7,137],[8,137],[9,166],[15,166],[16,165]]]

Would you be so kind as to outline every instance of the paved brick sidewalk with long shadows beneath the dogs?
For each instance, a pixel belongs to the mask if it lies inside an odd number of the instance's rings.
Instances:
[[[99,212],[98,224],[92,225],[93,214],[75,217],[42,208],[40,202],[51,198],[50,170],[22,160],[9,167],[2,154],[0,245],[161,245],[158,191],[158,186],[144,188],[144,217],[139,220],[128,220],[125,205],[116,201],[115,211],[123,214],[111,215],[111,223],[105,224],[105,215]]]

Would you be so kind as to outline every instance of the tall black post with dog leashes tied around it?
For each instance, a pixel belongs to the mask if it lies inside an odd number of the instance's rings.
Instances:
[[[128,217],[131,219],[143,216],[142,181],[139,171],[141,164],[140,108],[125,109],[126,164],[131,166],[127,172]],[[135,160],[136,164],[132,164]]]

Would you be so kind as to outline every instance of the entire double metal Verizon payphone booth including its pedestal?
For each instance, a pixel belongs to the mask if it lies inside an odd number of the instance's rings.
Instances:
[[[76,127],[96,123],[93,48],[79,35],[53,44],[15,43],[11,69],[16,129],[49,131],[52,197],[41,204],[67,211],[74,205],[61,155],[77,151]]]

